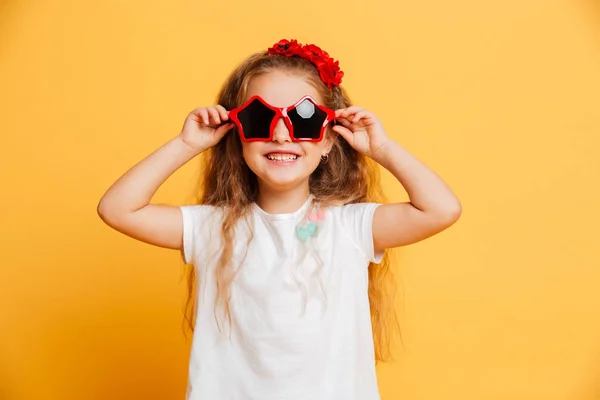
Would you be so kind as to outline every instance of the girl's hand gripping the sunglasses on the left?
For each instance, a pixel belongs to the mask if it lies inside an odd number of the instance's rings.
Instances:
[[[229,113],[221,105],[200,107],[185,119],[179,137],[189,148],[201,153],[217,143],[235,125],[229,121]]]

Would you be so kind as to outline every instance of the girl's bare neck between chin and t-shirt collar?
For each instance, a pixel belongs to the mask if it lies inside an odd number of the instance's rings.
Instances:
[[[256,204],[269,214],[291,214],[308,200],[308,182],[293,189],[277,190],[259,184]]]

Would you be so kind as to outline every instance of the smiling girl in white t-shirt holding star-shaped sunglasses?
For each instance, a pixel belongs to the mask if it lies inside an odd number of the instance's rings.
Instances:
[[[98,205],[114,229],[194,265],[190,400],[379,399],[375,361],[394,321],[386,249],[448,228],[461,207],[373,113],[350,105],[342,77],[317,46],[281,40]],[[200,204],[150,204],[201,153]],[[371,160],[410,202],[378,203]]]

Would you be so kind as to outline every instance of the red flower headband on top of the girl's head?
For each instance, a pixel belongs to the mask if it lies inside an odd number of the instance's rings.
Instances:
[[[326,51],[321,50],[314,44],[302,45],[297,40],[282,39],[275,43],[273,47],[267,50],[268,54],[278,54],[280,56],[293,57],[297,56],[310,61],[317,67],[321,80],[325,82],[327,87],[331,89],[334,86],[339,86],[342,83],[344,72],[340,70],[339,61],[334,61],[329,57]]]

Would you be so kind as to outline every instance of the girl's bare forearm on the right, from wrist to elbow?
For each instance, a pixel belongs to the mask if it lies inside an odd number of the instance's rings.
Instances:
[[[448,185],[395,141],[390,139],[374,158],[398,179],[417,209],[442,215],[460,212],[460,202]]]

